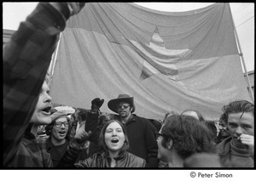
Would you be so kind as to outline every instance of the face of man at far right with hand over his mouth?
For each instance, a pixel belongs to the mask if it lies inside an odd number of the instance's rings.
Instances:
[[[230,113],[228,127],[232,139],[239,142],[241,134],[254,135],[254,116],[251,112]]]

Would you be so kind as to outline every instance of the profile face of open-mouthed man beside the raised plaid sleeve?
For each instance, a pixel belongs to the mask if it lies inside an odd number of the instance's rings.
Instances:
[[[46,125],[51,122],[50,119],[50,109],[51,109],[51,97],[49,96],[49,87],[46,82],[44,82],[36,109],[33,112],[31,122],[38,125]]]

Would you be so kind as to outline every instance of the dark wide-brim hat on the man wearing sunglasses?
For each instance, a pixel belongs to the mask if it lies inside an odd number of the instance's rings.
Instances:
[[[130,97],[130,95],[128,94],[119,94],[117,99],[111,99],[108,101],[108,108],[110,110],[112,110],[113,112],[118,113],[117,111],[117,105],[121,102],[125,102],[130,104],[131,107],[133,107],[133,109],[131,110],[131,112],[135,111],[135,105],[134,105],[134,100],[133,97]]]

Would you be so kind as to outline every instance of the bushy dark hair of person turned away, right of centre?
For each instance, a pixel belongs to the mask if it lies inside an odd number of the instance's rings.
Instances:
[[[214,152],[214,142],[207,126],[193,116],[172,115],[166,118],[161,133],[162,145],[172,139],[173,148],[183,159],[195,153]]]

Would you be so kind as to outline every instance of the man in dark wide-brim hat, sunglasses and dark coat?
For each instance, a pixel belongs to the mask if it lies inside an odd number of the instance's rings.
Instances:
[[[128,94],[119,94],[117,99],[108,102],[108,108],[119,115],[113,119],[125,125],[130,150],[135,156],[147,161],[146,167],[158,167],[157,143],[154,139],[156,128],[146,118],[132,114],[135,111],[134,99]]]

